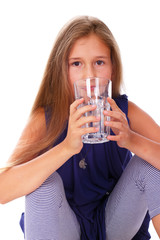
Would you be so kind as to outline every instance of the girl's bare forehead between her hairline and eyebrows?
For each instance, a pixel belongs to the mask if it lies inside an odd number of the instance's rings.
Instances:
[[[81,54],[83,52],[92,52],[95,54],[97,52],[97,54],[103,53],[108,55],[110,54],[110,49],[107,44],[100,39],[100,37],[98,37],[96,34],[90,34],[89,36],[85,36],[76,40],[69,55],[71,56],[77,53]]]

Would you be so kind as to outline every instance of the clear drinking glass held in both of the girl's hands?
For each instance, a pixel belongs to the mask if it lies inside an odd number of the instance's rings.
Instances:
[[[96,133],[88,133],[82,136],[84,143],[103,143],[107,142],[107,136],[110,134],[110,127],[104,126],[104,121],[109,121],[110,118],[104,116],[104,110],[110,110],[110,104],[107,102],[107,97],[112,97],[112,82],[109,79],[102,77],[91,77],[74,82],[75,98],[84,98],[84,102],[79,106],[96,105],[94,111],[86,112],[87,116],[100,116],[99,122],[91,122],[82,127],[98,127]]]

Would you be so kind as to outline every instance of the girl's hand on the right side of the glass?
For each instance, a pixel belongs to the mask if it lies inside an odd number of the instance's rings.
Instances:
[[[131,139],[131,129],[124,112],[117,106],[115,101],[107,98],[112,111],[104,111],[105,116],[110,117],[110,121],[105,121],[105,126],[110,126],[115,135],[109,135],[108,140],[116,141],[119,147],[127,148]]]

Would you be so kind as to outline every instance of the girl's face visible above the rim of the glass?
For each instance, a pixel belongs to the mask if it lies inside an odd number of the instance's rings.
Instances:
[[[68,59],[68,77],[71,85],[88,77],[111,79],[112,62],[110,49],[95,34],[78,39]]]

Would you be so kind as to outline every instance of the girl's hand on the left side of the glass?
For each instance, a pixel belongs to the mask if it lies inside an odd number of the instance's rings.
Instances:
[[[82,135],[87,133],[95,133],[98,132],[99,129],[94,127],[85,127],[82,126],[89,122],[98,122],[100,118],[95,116],[85,117],[84,113],[93,111],[96,109],[96,105],[86,105],[84,107],[77,107],[84,102],[84,99],[75,100],[70,106],[70,116],[68,123],[68,132],[67,136],[64,140],[65,146],[69,151],[71,151],[72,155],[78,154],[82,147]]]

